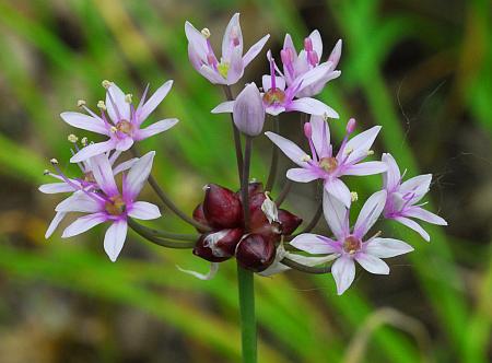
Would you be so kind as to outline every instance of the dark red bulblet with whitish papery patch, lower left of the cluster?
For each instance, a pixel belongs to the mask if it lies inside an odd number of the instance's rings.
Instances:
[[[194,248],[194,255],[211,262],[225,261],[234,255],[242,236],[242,229],[202,234]]]

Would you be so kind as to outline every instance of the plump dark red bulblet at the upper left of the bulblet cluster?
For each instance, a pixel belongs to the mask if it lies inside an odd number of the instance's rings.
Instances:
[[[239,198],[230,189],[210,184],[203,200],[203,215],[214,229],[233,229],[242,224]]]

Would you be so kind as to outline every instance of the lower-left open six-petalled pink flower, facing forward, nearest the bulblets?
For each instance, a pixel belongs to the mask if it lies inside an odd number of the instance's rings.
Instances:
[[[62,234],[62,238],[81,234],[97,224],[109,222],[104,237],[104,249],[115,261],[127,236],[127,219],[153,220],[161,216],[159,208],[144,201],[136,201],[152,169],[155,152],[140,157],[122,176],[121,191],[118,189],[114,171],[106,154],[91,159],[91,171],[95,185],[81,188],[56,207],[58,213],[87,213],[78,218]]]

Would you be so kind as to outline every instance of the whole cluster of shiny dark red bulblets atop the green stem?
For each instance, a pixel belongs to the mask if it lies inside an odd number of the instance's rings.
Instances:
[[[216,184],[206,187],[203,202],[194,211],[194,219],[212,229],[197,241],[194,254],[211,262],[222,262],[235,257],[245,269],[260,272],[274,260],[282,236],[291,235],[302,219],[279,209],[272,220],[261,208],[271,202],[261,183],[249,183],[249,229],[245,230],[241,192]]]

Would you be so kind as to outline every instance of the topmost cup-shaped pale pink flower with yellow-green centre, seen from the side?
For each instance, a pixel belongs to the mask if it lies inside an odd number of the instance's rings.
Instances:
[[[188,38],[188,56],[194,68],[213,84],[234,84],[244,73],[244,69],[261,51],[269,34],[258,40],[243,56],[243,33],[241,32],[239,14],[233,15],[225,28],[222,39],[222,57],[220,61],[210,44],[210,31],[197,31],[191,23],[185,23]]]

